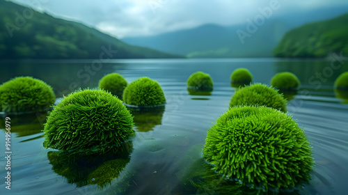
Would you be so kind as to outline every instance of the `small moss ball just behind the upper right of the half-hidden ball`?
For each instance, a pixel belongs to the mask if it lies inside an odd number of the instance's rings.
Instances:
[[[292,72],[279,72],[272,77],[271,86],[283,90],[293,90],[300,86],[300,81]]]

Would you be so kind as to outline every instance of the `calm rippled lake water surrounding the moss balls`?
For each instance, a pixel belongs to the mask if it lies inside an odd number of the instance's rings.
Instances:
[[[236,68],[248,68],[254,82],[269,84],[276,72],[283,71],[293,72],[301,81],[301,88],[297,95],[290,97],[287,109],[311,141],[315,167],[310,184],[280,194],[347,194],[348,100],[344,97],[348,95],[333,90],[338,75],[348,71],[347,62],[147,59],[110,60],[98,65],[92,60],[1,61],[0,83],[16,76],[33,76],[51,85],[57,98],[80,87],[96,88],[99,79],[111,72],[120,73],[128,83],[139,77],[150,77],[163,88],[167,104],[165,110],[147,114],[134,112],[136,136],[132,138],[129,157],[118,162],[122,164],[121,170],[108,166],[106,162],[115,160],[110,157],[70,158],[43,148],[41,130],[45,113],[10,116],[12,183],[8,190],[1,182],[0,193],[258,194],[260,191],[245,187],[226,192],[223,191],[226,182],[194,175],[199,171],[209,173],[202,148],[207,130],[228,109],[235,93],[235,88],[230,86],[230,74]],[[212,95],[188,94],[187,78],[198,70],[211,75]],[[5,154],[3,117],[0,118],[1,156]],[[1,181],[4,181],[6,159],[1,157],[0,162]]]

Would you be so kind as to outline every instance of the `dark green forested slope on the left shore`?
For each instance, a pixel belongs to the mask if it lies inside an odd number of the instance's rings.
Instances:
[[[117,52],[116,52],[117,50]],[[100,56],[103,54],[103,56]],[[0,1],[0,59],[173,58],[125,42],[77,22]]]

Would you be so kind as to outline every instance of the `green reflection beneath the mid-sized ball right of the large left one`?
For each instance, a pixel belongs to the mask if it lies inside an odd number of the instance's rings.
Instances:
[[[138,132],[152,131],[156,125],[161,125],[165,107],[132,108],[127,107],[134,116],[134,124]]]

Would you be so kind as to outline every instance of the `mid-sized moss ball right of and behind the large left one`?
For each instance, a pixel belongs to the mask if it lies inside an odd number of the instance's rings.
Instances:
[[[156,107],[166,103],[161,86],[148,77],[136,79],[123,91],[123,102],[138,107]]]

